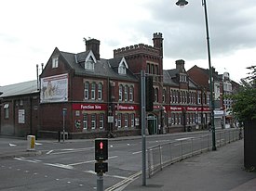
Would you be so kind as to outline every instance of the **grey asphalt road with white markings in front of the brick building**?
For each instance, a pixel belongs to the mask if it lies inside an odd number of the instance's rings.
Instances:
[[[147,147],[209,132],[147,136]],[[0,143],[4,149],[4,143]],[[5,143],[5,146],[15,144]],[[16,146],[24,146],[20,141]],[[40,156],[0,159],[0,190],[96,190],[94,172],[94,140],[36,141]],[[179,152],[179,151],[177,151]],[[108,172],[104,174],[104,188],[115,190],[122,183],[141,172],[141,137],[110,139]]]

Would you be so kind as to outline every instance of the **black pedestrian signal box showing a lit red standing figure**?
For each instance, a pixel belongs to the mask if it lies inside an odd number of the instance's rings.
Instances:
[[[95,160],[102,161],[108,159],[108,139],[95,139]]]

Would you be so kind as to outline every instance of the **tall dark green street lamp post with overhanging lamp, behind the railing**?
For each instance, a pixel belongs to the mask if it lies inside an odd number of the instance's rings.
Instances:
[[[188,2],[186,0],[178,0],[177,6],[186,6]],[[208,60],[209,60],[209,92],[210,92],[210,105],[211,105],[211,132],[212,132],[212,150],[216,150],[215,140],[215,125],[214,125],[214,100],[213,100],[213,85],[212,85],[212,70],[210,63],[210,48],[209,48],[209,26],[208,26],[208,14],[207,14],[207,1],[202,0],[202,6],[205,8],[205,19],[206,19],[206,32],[207,32],[207,47],[208,47]]]

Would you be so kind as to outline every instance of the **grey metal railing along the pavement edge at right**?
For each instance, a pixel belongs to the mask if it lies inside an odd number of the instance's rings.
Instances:
[[[241,129],[229,129],[216,132],[216,146],[225,146],[226,144],[241,139],[241,137]],[[149,147],[147,149],[148,175],[151,177],[155,172],[161,171],[166,166],[209,151],[211,147],[211,134],[181,138],[166,144]]]

